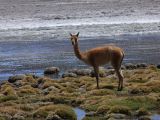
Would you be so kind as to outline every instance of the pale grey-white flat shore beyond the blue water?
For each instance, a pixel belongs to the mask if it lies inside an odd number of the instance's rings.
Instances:
[[[70,32],[80,32],[81,37],[159,32],[159,4],[157,0],[1,0],[0,41],[66,39]]]

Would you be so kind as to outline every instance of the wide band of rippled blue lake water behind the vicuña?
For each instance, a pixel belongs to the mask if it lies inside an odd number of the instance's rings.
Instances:
[[[79,44],[82,51],[99,45],[116,44],[125,51],[123,63],[158,64],[159,38],[159,33],[118,35],[99,39],[80,38]],[[1,41],[0,57],[0,80],[24,73],[42,76],[49,66],[59,67],[60,74],[67,69],[87,67],[75,57],[69,40]]]

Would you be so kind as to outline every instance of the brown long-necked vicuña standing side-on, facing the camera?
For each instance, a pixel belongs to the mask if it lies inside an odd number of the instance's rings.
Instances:
[[[122,90],[123,74],[121,72],[121,63],[124,58],[124,51],[117,46],[105,45],[90,49],[86,52],[81,52],[78,46],[79,32],[76,35],[70,33],[70,36],[76,57],[93,67],[97,81],[97,88],[99,88],[99,66],[110,62],[119,79],[118,90]]]

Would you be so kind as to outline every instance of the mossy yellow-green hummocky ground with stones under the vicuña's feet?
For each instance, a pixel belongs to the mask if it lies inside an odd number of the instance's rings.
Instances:
[[[76,120],[73,108],[80,107],[86,111],[84,120],[150,120],[160,112],[159,66],[127,64],[122,68],[122,91],[117,91],[112,68],[101,68],[100,89],[90,69],[70,70],[59,80],[12,76],[1,83],[0,119]]]

